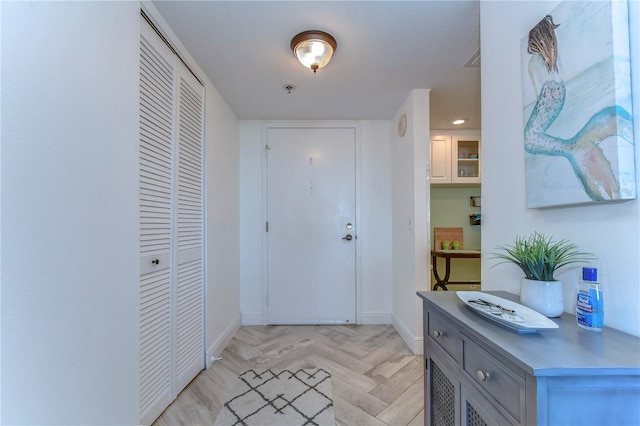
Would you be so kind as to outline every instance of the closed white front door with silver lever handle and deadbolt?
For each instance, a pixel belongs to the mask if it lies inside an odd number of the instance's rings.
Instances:
[[[354,128],[267,131],[269,324],[355,324]]]

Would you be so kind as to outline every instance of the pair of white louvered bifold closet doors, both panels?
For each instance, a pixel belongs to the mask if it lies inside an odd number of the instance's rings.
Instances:
[[[140,422],[205,365],[204,87],[141,17]]]

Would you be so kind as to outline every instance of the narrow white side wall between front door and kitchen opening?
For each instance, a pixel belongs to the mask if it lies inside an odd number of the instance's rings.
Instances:
[[[408,123],[404,137],[396,131],[402,114]],[[392,124],[393,324],[407,345],[422,353],[422,303],[416,292],[429,288],[429,90],[412,91]]]

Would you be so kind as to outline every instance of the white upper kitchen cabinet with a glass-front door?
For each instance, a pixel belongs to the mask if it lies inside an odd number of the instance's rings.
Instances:
[[[430,138],[432,184],[479,184],[480,132],[434,132]]]

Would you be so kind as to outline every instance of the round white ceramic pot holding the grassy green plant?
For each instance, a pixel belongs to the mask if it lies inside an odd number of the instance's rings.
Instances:
[[[546,317],[559,317],[564,312],[562,281],[534,281],[523,278],[520,285],[520,303]]]

